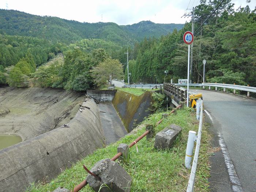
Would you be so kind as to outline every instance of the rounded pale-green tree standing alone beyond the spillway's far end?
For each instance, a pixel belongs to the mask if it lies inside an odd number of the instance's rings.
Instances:
[[[97,66],[91,69],[94,83],[97,86],[102,86],[106,84],[109,80],[109,76],[112,79],[123,79],[123,67],[117,59],[106,59],[105,61],[99,63]]]

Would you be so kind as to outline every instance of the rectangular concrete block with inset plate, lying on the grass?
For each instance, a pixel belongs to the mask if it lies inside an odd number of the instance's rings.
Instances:
[[[171,124],[158,132],[155,136],[156,149],[171,148],[177,136],[181,133],[182,128],[178,125]]]

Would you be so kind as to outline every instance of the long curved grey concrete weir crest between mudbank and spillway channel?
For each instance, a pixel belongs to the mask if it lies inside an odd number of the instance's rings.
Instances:
[[[99,110],[93,100],[70,121],[57,128],[0,150],[0,188],[23,191],[34,181],[48,181],[71,163],[103,146]]]

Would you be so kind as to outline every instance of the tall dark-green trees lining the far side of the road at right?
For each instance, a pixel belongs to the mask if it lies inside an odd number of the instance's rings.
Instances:
[[[195,31],[215,9],[219,1],[208,4],[201,0],[195,8]],[[248,6],[233,10],[230,0],[225,0],[206,25],[195,33],[193,42],[193,82],[203,81],[202,60],[206,59],[206,82],[250,84],[256,86],[256,10]],[[188,46],[182,37],[191,30],[186,23],[180,31],[162,36],[160,39],[144,39],[134,47],[129,61],[130,82],[162,83],[164,71],[166,81],[177,82],[187,78]],[[127,75],[125,75],[127,79]]]

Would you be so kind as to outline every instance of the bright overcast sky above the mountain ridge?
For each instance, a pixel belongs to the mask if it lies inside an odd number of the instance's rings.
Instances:
[[[181,18],[187,8],[200,0],[1,0],[0,8],[19,10],[34,15],[57,16],[79,22],[114,22],[129,25],[142,20],[155,23],[185,23]],[[189,3],[190,2],[190,3]],[[246,0],[231,0],[235,8],[245,7]],[[256,0],[248,4],[255,8]]]

